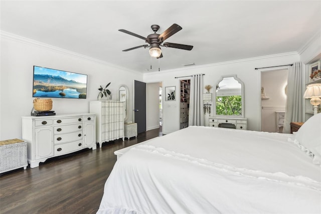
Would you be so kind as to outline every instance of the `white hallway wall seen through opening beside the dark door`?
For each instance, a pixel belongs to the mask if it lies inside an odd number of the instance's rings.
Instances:
[[[148,83],[146,95],[146,129],[159,128],[159,87],[162,83]]]

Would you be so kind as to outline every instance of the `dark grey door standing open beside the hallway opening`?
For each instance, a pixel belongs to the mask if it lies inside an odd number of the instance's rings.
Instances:
[[[146,83],[134,80],[134,122],[137,133],[146,131]]]

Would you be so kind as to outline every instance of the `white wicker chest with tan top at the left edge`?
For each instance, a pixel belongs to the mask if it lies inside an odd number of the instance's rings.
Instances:
[[[20,139],[0,141],[0,173],[28,166],[27,142]]]

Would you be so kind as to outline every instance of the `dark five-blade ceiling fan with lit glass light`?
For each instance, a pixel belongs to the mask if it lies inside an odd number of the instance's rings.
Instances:
[[[188,50],[188,51],[191,51],[193,49],[193,46],[191,46],[191,45],[182,45],[182,44],[176,44],[176,43],[163,43],[166,39],[168,39],[169,37],[173,36],[174,34],[179,32],[180,30],[182,30],[182,27],[177,24],[173,24],[170,28],[168,28],[162,34],[156,34],[156,32],[159,30],[158,25],[152,25],[152,26],[150,26],[150,28],[151,28],[151,30],[153,30],[154,33],[148,35],[147,38],[139,36],[139,35],[134,34],[132,32],[126,31],[124,29],[118,30],[118,31],[123,32],[125,34],[129,34],[131,36],[145,40],[145,42],[148,43],[148,45],[140,45],[140,46],[129,48],[129,49],[126,49],[123,51],[131,51],[131,50],[134,50],[137,48],[150,47],[149,48],[149,55],[151,57],[162,58],[163,57],[162,49],[159,46],[166,47],[166,48],[178,48],[178,49],[183,49],[183,50]]]

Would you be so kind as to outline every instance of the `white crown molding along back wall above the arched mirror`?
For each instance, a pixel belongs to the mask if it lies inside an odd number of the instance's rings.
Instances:
[[[220,63],[200,65],[200,66],[189,66],[187,68],[179,68],[179,69],[172,69],[172,70],[165,70],[165,71],[155,71],[155,72],[144,73],[144,75],[153,75],[153,74],[162,74],[162,73],[164,74],[164,73],[175,72],[175,71],[184,71],[184,70],[200,69],[200,68],[206,68],[206,67],[215,67],[215,66],[221,66],[221,65],[244,63],[244,62],[249,62],[249,61],[265,60],[265,59],[287,57],[287,56],[294,56],[294,55],[298,55],[298,53],[296,51],[294,51],[294,52],[287,52],[287,53],[282,53],[282,54],[266,55],[266,56],[261,56],[261,57],[246,58],[246,59],[241,59],[241,60],[226,61],[226,62],[220,62]]]

